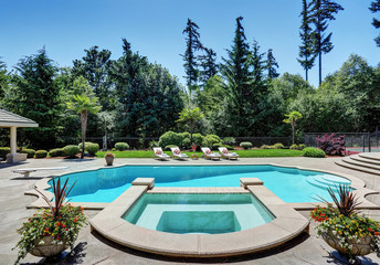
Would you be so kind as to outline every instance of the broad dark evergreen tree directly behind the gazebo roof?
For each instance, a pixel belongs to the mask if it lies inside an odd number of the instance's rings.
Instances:
[[[32,147],[55,147],[63,113],[60,88],[54,82],[57,67],[42,49],[35,55],[21,59],[15,68],[19,76],[13,78],[17,89],[9,102],[10,110],[40,125],[22,131]],[[20,140],[25,139],[24,134],[20,134]]]

